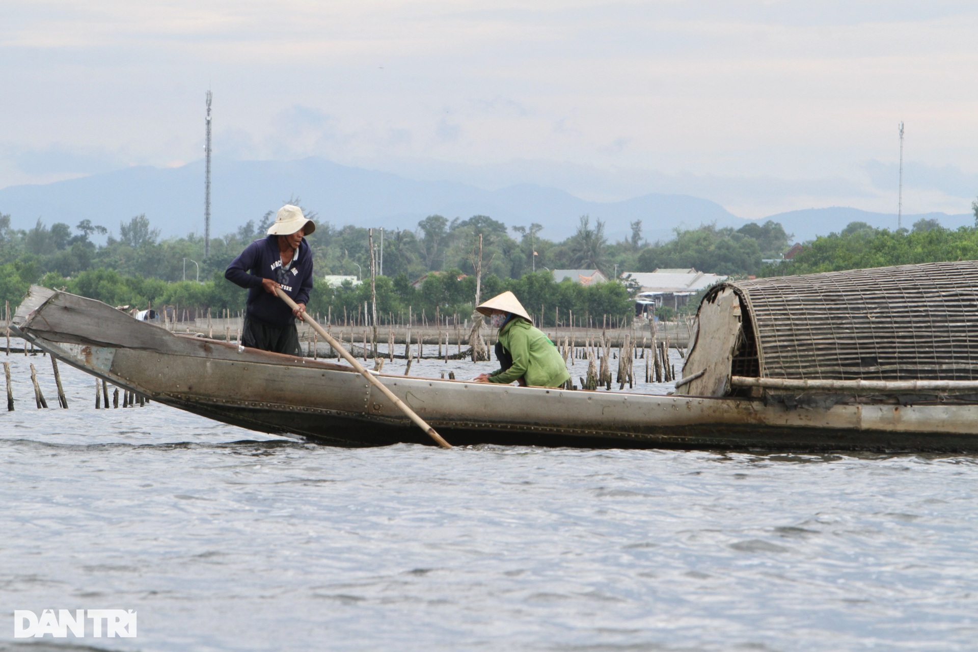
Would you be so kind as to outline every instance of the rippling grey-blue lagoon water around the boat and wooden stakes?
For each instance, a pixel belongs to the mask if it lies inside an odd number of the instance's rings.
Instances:
[[[49,359],[9,360],[0,650],[978,648],[973,456],[335,449],[96,411],[64,365],[37,411]],[[45,608],[138,637],[13,638]]]

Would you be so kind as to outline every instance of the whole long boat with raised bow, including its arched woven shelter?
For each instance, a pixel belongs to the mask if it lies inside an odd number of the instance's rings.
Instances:
[[[723,283],[671,395],[377,376],[456,446],[975,452],[976,288],[978,263]],[[226,423],[431,444],[344,365],[172,333],[40,286],[14,325],[77,369]]]

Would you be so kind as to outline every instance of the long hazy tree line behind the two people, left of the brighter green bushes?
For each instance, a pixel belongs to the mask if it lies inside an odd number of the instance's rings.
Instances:
[[[300,203],[292,197],[290,202]],[[367,229],[334,226],[318,219],[315,211],[303,212],[316,220],[312,246],[316,288],[310,310],[347,313],[362,306],[365,289],[352,283],[330,287],[325,275],[365,277],[370,269]],[[63,222],[47,226],[38,220],[29,230],[11,227],[9,215],[0,214],[0,300],[20,302],[30,283],[65,287],[112,305],[144,308],[177,305],[188,308],[240,310],[244,291],[224,280],[228,264],[253,239],[264,237],[275,219],[274,211],[241,225],[236,232],[210,240],[204,256],[202,237],[160,239],[146,215],[118,225],[117,232],[90,220],[73,229]],[[553,269],[600,269],[650,272],[658,267],[696,267],[722,274],[756,274],[762,259],[777,257],[788,242],[779,224],[747,224],[740,229],[703,226],[677,230],[675,239],[648,242],[643,221],[631,223],[626,239],[609,242],[601,220],[581,216],[576,228],[563,240],[540,236],[542,227],[508,228],[485,215],[449,220],[430,215],[417,228],[385,230],[383,276],[378,278],[380,314],[425,311],[433,314],[470,311],[474,300],[478,242],[482,239],[483,296],[512,289],[527,308],[545,313],[556,309],[578,315],[626,315],[632,311],[636,290],[624,283],[584,287],[556,283]],[[105,243],[96,240],[105,239]],[[375,230],[375,243],[379,242]],[[420,287],[412,282],[431,272]],[[535,273],[534,273],[535,272]],[[200,279],[200,283],[197,283]],[[538,309],[537,306],[543,306]],[[546,323],[546,321],[545,321]]]

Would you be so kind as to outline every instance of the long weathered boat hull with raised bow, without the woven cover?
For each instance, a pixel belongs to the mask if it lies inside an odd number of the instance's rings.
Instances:
[[[431,444],[352,369],[182,336],[64,292],[18,312],[22,336],[174,408],[333,446]],[[378,374],[451,444],[978,452],[978,406],[836,404],[522,388]]]

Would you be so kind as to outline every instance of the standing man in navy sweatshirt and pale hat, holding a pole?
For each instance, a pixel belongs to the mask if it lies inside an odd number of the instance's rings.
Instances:
[[[242,343],[254,349],[301,356],[295,318],[305,311],[312,290],[312,249],[304,236],[316,230],[298,206],[286,204],[268,230],[268,237],[248,244],[224,273],[246,287]],[[298,304],[292,310],[279,298],[281,287]]]

